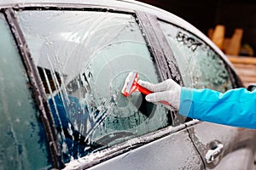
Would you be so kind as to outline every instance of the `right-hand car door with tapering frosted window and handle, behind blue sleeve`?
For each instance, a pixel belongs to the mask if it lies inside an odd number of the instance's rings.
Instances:
[[[184,86],[225,92],[241,87],[231,66],[188,27],[158,20],[166,42],[177,60]],[[229,113],[223,113],[229,114]],[[253,169],[255,130],[209,122],[190,124],[189,135],[201,153],[207,169]]]

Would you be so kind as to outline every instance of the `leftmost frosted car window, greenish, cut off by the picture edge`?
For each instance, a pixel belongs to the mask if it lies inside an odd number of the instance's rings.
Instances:
[[[3,14],[0,37],[0,169],[49,168],[44,128]]]

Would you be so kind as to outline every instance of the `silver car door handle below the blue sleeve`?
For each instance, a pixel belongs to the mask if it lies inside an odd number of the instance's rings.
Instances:
[[[218,159],[218,156],[220,156],[224,151],[224,144],[215,144],[212,149],[207,151],[206,155],[206,161],[207,163],[212,163],[212,161]]]

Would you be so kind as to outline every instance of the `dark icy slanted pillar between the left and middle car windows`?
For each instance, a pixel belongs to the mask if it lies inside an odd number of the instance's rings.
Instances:
[[[37,67],[33,64],[32,56],[29,50],[27,50],[25,37],[23,36],[20,25],[16,20],[13,8],[4,8],[3,14],[8,22],[10,31],[14,36],[17,48],[20,53],[21,61],[25,66],[27,77],[29,78],[29,82],[31,83],[30,85],[32,87],[33,95],[32,98],[36,100],[35,103],[38,106],[39,116],[44,125],[44,131],[48,140],[53,167],[62,168],[64,167],[64,162],[62,161],[60,154],[61,148],[57,141],[55,127],[53,126],[53,118],[49,112],[49,105],[44,94],[42,82],[40,81],[40,77],[38,76]]]

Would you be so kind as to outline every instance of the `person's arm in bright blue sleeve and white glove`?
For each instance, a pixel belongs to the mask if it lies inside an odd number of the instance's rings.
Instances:
[[[245,88],[236,88],[222,94],[211,89],[178,88],[171,79],[160,84],[140,83],[145,88],[156,90],[156,93],[146,96],[148,101],[166,100],[183,116],[235,127],[256,128],[256,90],[249,92]],[[156,88],[159,86],[166,88]]]

